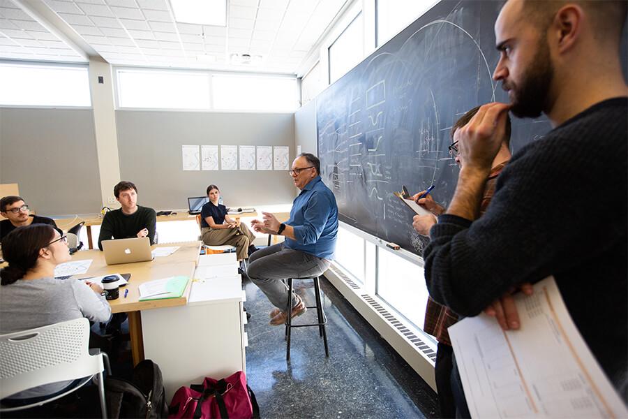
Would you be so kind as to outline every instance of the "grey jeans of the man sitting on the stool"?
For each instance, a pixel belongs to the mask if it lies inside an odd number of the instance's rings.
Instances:
[[[268,297],[278,309],[285,311],[288,303],[288,288],[282,279],[317,277],[327,270],[331,260],[317,258],[294,249],[285,249],[283,243],[275,244],[253,253],[248,259],[246,273],[253,284]],[[292,307],[297,296],[290,296]]]

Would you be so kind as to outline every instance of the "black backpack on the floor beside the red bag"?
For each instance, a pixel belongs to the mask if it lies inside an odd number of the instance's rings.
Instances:
[[[107,415],[110,418],[167,418],[163,377],[159,366],[143,360],[133,369],[133,380],[105,378]]]

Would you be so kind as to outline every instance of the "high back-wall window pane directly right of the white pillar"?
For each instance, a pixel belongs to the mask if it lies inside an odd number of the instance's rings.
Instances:
[[[118,70],[120,108],[211,108],[209,73]]]

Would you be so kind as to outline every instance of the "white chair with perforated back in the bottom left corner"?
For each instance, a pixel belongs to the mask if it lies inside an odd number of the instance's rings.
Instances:
[[[61,394],[25,406],[0,404],[0,413],[30,409],[78,390],[97,376],[100,413],[107,418],[104,353],[90,355],[87,318],[0,335],[0,400],[39,385],[70,381]]]

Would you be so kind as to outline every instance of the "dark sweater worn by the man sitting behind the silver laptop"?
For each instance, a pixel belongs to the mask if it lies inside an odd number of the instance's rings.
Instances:
[[[137,237],[137,233],[140,233],[143,228],[149,230],[147,237],[151,240],[151,244],[155,244],[157,214],[152,208],[137,205],[137,211],[130,215],[124,214],[121,208],[107,212],[103,218],[103,225],[100,226],[98,248],[103,250],[103,240]]]

